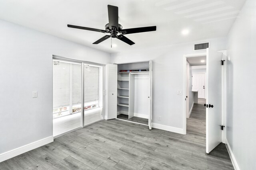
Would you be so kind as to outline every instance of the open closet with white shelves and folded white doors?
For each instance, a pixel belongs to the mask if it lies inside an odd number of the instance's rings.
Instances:
[[[148,125],[152,120],[152,61],[108,64],[106,119]]]

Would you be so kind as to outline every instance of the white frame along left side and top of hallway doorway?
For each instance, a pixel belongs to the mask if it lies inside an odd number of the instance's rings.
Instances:
[[[187,133],[187,101],[186,99],[186,92],[187,92],[187,58],[190,57],[201,57],[201,56],[206,56],[206,52],[204,53],[194,53],[194,54],[185,54],[183,55],[183,133],[186,135]],[[206,85],[206,84],[205,84]],[[188,100],[189,101],[189,100]]]

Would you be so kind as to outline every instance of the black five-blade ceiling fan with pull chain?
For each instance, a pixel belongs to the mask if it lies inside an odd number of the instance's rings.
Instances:
[[[102,41],[108,39],[108,38],[117,38],[121,41],[124,41],[125,43],[129,45],[135,44],[133,41],[125,37],[125,34],[132,34],[132,33],[142,33],[142,32],[148,32],[148,31],[156,31],[156,26],[151,27],[138,27],[138,28],[129,28],[129,29],[123,29],[122,25],[118,23],[118,7],[108,5],[108,22],[105,25],[105,30],[103,29],[95,29],[95,28],[88,28],[88,27],[81,27],[76,25],[69,25],[70,28],[77,28],[77,29],[85,29],[89,31],[97,31],[102,33],[110,33],[110,35],[105,35],[104,37],[100,38],[99,40],[95,41],[93,44],[101,43]]]

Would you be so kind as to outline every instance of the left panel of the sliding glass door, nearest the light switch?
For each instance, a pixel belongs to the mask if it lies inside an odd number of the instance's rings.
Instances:
[[[53,60],[53,135],[81,127],[81,63]]]

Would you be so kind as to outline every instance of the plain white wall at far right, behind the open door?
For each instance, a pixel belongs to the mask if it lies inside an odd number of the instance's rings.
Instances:
[[[228,35],[227,140],[241,170],[256,169],[256,1],[247,0]]]

